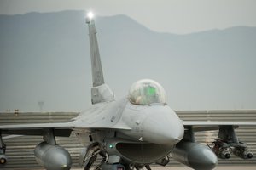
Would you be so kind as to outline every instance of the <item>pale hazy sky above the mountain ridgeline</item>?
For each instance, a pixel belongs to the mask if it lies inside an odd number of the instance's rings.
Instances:
[[[189,33],[256,26],[255,0],[0,0],[0,14],[93,10],[126,14],[154,31]]]

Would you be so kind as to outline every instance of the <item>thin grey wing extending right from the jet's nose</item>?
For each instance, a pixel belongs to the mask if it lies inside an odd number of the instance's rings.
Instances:
[[[185,128],[192,127],[194,132],[218,130],[222,126],[256,126],[256,122],[217,122],[217,121],[183,121]]]

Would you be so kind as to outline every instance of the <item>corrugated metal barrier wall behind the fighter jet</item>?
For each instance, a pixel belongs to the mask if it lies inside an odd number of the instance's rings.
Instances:
[[[240,120],[241,122],[253,122],[256,120],[255,114],[256,111],[175,111],[177,115],[183,120],[225,120],[228,122],[234,122],[235,120]],[[32,122],[67,122],[72,117],[77,116],[76,112],[20,112],[18,116],[15,116],[13,112],[1,112],[0,113],[0,124],[8,124],[8,123],[32,123]],[[241,116],[242,115],[242,116]],[[251,151],[255,154],[256,150],[256,126],[240,126],[239,130],[236,130],[236,135],[239,137],[241,141],[249,142],[247,146]],[[15,138],[14,138],[15,137]],[[209,132],[199,132],[195,133],[195,139],[198,143],[201,144],[209,144],[212,147],[212,141],[218,137],[218,131],[209,131]],[[88,139],[88,136],[86,136]],[[39,144],[42,141],[42,136],[6,136],[3,138],[6,145],[8,145],[8,151],[6,152],[6,156],[8,159],[8,164],[4,167],[4,169],[35,169],[40,168],[37,161],[33,156],[34,146]],[[69,138],[66,137],[56,137],[57,143],[67,149],[70,152],[73,160],[73,168],[80,168],[78,163],[78,157],[81,150],[84,149],[82,144],[79,144],[79,140],[72,133]],[[84,144],[88,145],[90,144]],[[247,167],[247,166],[255,166],[256,158],[253,157],[251,160],[243,160],[239,157],[234,156],[232,153],[230,154],[229,160],[218,160],[218,167],[215,169],[219,169],[229,166],[238,166],[238,167]],[[26,158],[26,160],[24,160]],[[98,162],[98,161],[96,161]],[[248,165],[249,164],[249,165]],[[181,165],[178,161],[175,161],[170,157],[170,162],[167,164],[168,168],[178,168],[182,166],[183,168],[189,169],[189,167],[184,167],[185,165]],[[151,167],[165,168],[160,167],[159,165],[152,165]],[[1,168],[1,167],[0,167]]]

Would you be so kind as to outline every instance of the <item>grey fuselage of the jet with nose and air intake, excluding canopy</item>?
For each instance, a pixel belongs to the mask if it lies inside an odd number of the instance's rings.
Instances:
[[[132,163],[158,161],[172,151],[184,133],[182,121],[168,105],[134,105],[127,98],[93,105],[73,121],[90,127],[106,125],[107,129],[83,131],[78,127],[74,131],[84,146],[96,142],[109,155]]]

